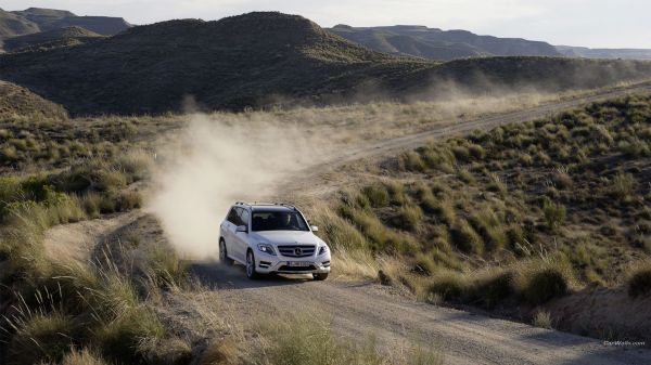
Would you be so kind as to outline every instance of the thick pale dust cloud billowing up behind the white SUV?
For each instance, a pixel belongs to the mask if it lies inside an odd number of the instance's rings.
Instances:
[[[180,255],[214,258],[229,207],[265,200],[283,179],[323,158],[324,141],[270,116],[238,123],[201,114],[190,119],[158,148],[148,210]]]

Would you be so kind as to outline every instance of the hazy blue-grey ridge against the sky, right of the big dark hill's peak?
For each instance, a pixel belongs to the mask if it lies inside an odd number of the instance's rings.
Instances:
[[[467,30],[442,30],[412,25],[381,27],[336,25],[328,30],[378,52],[431,60],[561,55],[553,45],[546,42],[477,36]]]

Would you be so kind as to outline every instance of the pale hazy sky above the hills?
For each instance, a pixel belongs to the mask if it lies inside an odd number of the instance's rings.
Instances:
[[[142,25],[214,21],[251,11],[303,15],[323,27],[418,24],[591,48],[651,49],[649,0],[2,0],[3,10],[69,10]]]

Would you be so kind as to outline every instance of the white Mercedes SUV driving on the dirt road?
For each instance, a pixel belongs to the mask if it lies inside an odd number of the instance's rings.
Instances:
[[[235,203],[219,229],[219,259],[246,265],[246,276],[330,273],[330,249],[296,207]]]

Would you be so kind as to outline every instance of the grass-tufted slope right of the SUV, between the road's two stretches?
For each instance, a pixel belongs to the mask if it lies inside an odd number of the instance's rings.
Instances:
[[[644,295],[648,265],[629,272],[651,255],[650,123],[639,96],[432,143],[381,164],[321,225],[346,251],[398,258],[407,269],[381,264],[380,279],[432,301],[535,308],[588,285]]]

